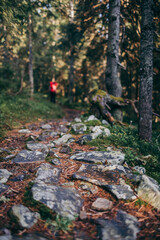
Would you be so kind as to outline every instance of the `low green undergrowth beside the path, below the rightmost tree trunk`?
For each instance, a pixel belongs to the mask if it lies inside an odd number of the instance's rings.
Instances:
[[[147,175],[160,183],[160,137],[154,130],[152,142],[139,139],[137,127],[114,125],[109,127],[111,135],[103,139],[96,139],[88,144],[97,146],[105,151],[108,146],[121,149],[125,153],[125,160],[129,166],[143,166]]]

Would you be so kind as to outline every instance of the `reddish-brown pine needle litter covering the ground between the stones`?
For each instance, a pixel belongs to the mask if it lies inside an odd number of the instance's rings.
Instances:
[[[75,117],[80,116],[82,113],[78,110],[65,109],[65,117],[60,120],[48,120],[47,122],[53,126],[53,130],[57,131],[59,126],[66,126],[70,123]],[[42,133],[42,129],[40,129],[40,125],[42,122],[32,122],[29,124],[25,124],[24,128],[29,128],[29,126],[34,126],[32,128],[32,135],[34,137],[40,135]],[[37,130],[38,129],[38,130]],[[26,148],[26,141],[30,137],[30,134],[19,134],[19,129],[13,129],[7,133],[7,136],[1,142],[1,149],[12,150],[14,153],[18,153],[19,151]],[[78,138],[80,135],[75,135],[74,138]],[[51,140],[51,139],[48,139]],[[60,153],[60,146],[55,149],[55,152],[60,157],[61,165],[58,166],[62,169],[62,174],[60,177],[60,184],[69,183],[71,181],[71,177],[74,172],[76,172],[80,165],[82,164],[79,161],[67,161],[71,154],[77,151],[95,151],[96,147],[91,147],[89,145],[79,145],[75,142],[70,143],[70,148],[72,149],[71,153],[64,154]],[[3,156],[5,156],[4,153]],[[1,156],[2,157],[2,156]],[[124,201],[124,200],[116,200],[110,193],[97,186],[98,191],[95,193],[88,193],[80,188],[80,180],[74,181],[74,187],[81,193],[83,198],[83,212],[85,212],[86,217],[79,217],[75,221],[73,221],[70,225],[68,225],[68,229],[66,230],[66,226],[61,224],[59,226],[58,231],[56,233],[50,229],[46,220],[39,219],[38,222],[29,229],[19,229],[11,221],[8,216],[8,212],[10,208],[15,204],[24,204],[24,194],[26,192],[26,188],[29,183],[35,178],[37,167],[40,166],[41,163],[25,163],[25,164],[17,164],[11,163],[11,160],[0,160],[0,169],[7,169],[8,171],[12,171],[12,179],[20,174],[27,173],[27,178],[22,181],[12,181],[9,179],[7,185],[9,185],[9,189],[3,194],[6,199],[9,199],[6,202],[0,202],[0,229],[4,227],[9,229],[12,234],[17,236],[23,236],[26,233],[39,233],[47,239],[99,239],[96,219],[114,219],[118,210],[124,210],[128,214],[131,214],[137,217],[139,221],[140,231],[137,235],[137,239],[160,239],[160,212],[154,209],[151,205],[146,204],[145,202],[139,201],[138,199],[134,201]],[[91,208],[92,203],[97,198],[106,198],[110,199],[113,202],[113,207],[109,211],[96,211]],[[36,207],[31,206],[30,210],[36,211]],[[0,232],[0,234],[2,234]]]

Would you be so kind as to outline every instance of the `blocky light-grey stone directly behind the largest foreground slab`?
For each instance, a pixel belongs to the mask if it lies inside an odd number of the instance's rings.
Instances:
[[[61,169],[57,167],[53,167],[49,163],[43,163],[37,170],[36,179],[34,182],[36,183],[47,183],[54,184],[59,181]]]

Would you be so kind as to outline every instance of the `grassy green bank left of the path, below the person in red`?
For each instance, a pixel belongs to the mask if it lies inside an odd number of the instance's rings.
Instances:
[[[42,95],[35,94],[31,100],[25,95],[0,96],[0,138],[6,130],[20,127],[37,119],[53,119],[63,116],[62,108],[49,102]]]

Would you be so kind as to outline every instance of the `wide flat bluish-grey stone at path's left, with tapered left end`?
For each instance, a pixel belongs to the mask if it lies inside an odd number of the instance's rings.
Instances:
[[[46,156],[47,155],[44,152],[22,150],[15,158],[12,159],[12,163],[32,163],[44,161]]]

